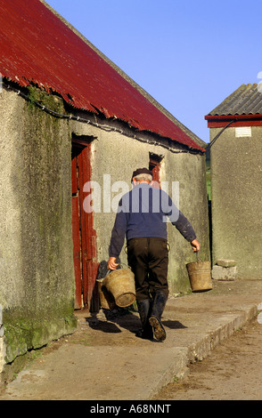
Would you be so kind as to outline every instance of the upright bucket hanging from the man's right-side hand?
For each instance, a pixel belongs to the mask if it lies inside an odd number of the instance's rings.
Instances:
[[[206,292],[212,289],[211,261],[189,262],[186,264],[192,292]]]

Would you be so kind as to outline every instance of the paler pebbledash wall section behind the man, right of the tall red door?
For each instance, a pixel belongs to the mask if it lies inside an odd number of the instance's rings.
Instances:
[[[150,154],[159,156],[160,182],[167,181],[169,194],[172,196],[172,182],[179,192],[179,208],[192,222],[197,237],[201,242],[201,258],[209,260],[209,215],[206,187],[205,156],[191,154],[186,147],[173,145],[174,152],[161,146],[150,145],[143,141],[129,138],[128,129],[115,122],[115,126],[123,129],[123,133],[105,133],[94,127],[74,122],[72,131],[77,135],[94,135],[97,139],[92,142],[92,180],[101,185],[104,192],[104,174],[110,174],[111,184],[125,181],[131,189],[131,176],[135,168],[148,167]],[[156,141],[150,133],[135,133],[145,141]],[[158,139],[158,141],[160,141]],[[181,152],[179,152],[181,151]],[[107,179],[105,179],[107,181]],[[111,204],[115,206],[119,201],[119,192],[111,192]],[[174,196],[175,200],[177,195]],[[102,196],[103,199],[103,196]],[[98,261],[108,260],[108,248],[111,239],[116,213],[94,213],[94,229],[97,235]],[[191,245],[185,241],[177,229],[168,223],[169,269],[168,282],[170,293],[184,293],[190,290],[185,264],[196,261]],[[127,265],[125,245],[120,254],[120,261]]]

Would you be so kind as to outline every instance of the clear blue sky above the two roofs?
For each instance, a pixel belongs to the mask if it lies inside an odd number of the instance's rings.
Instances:
[[[261,0],[47,3],[203,141],[205,115],[261,81]]]

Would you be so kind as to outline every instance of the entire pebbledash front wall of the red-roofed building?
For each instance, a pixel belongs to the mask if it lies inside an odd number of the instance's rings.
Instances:
[[[75,280],[71,230],[71,141],[92,139],[92,180],[103,191],[104,174],[111,184],[131,188],[134,168],[148,166],[150,153],[161,157],[160,180],[179,182],[179,207],[201,242],[201,258],[209,260],[209,221],[205,156],[172,141],[172,150],[144,140],[162,141],[152,133],[135,133],[112,121],[114,130],[53,117],[35,106],[65,114],[63,101],[36,89],[25,100],[3,87],[0,94],[0,372],[6,364],[76,328]],[[72,112],[72,109],[70,109]],[[83,116],[83,114],[76,114]],[[84,115],[109,125],[105,119]],[[136,135],[136,138],[130,136]],[[132,134],[132,135],[131,135]],[[143,140],[143,141],[139,141]],[[181,152],[178,152],[181,151]],[[171,190],[170,190],[171,191]],[[119,190],[111,192],[111,198]],[[108,260],[115,213],[94,213],[97,261]],[[168,224],[170,293],[189,291],[185,264],[195,260],[192,248]],[[121,261],[127,262],[126,253]]]

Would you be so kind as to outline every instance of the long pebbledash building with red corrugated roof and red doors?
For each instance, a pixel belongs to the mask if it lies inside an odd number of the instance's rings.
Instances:
[[[1,371],[72,333],[74,309],[92,309],[134,168],[151,167],[170,194],[176,186],[205,259],[209,226],[196,135],[44,1],[3,0],[0,22]],[[168,231],[170,291],[180,293],[193,253]]]

